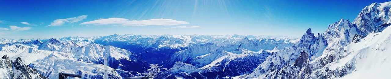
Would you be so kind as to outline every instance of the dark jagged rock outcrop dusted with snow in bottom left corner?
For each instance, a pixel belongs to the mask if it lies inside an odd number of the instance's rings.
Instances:
[[[0,59],[1,79],[46,79],[37,70],[23,64],[20,57],[15,62],[9,60],[7,55]]]

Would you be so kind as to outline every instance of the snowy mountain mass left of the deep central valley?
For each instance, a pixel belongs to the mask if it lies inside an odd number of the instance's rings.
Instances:
[[[0,53],[10,55],[11,60],[18,60],[19,58],[19,61],[23,61],[23,64],[30,64],[29,67],[38,69],[40,74],[49,78],[58,77],[58,74],[51,73],[75,73],[84,68],[81,65],[95,65],[91,69],[81,70],[83,71],[81,73],[86,75],[85,78],[102,77],[104,76],[102,69],[96,68],[97,66],[104,67],[102,65],[104,64],[104,57],[108,57],[108,66],[111,68],[111,72],[116,74],[115,78],[118,79],[143,75],[142,73],[150,66],[135,54],[114,46],[102,46],[95,43],[80,44],[69,40],[59,41],[53,38],[43,43],[39,40],[6,43],[2,45]],[[20,60],[20,58],[25,60]],[[65,62],[59,62],[64,60]],[[77,65],[81,68],[73,67],[67,62],[71,64],[79,63]],[[65,66],[68,70],[56,70],[57,67],[61,66]]]

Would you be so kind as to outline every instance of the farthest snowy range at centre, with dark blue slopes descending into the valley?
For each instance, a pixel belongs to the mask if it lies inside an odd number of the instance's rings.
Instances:
[[[112,45],[118,48],[124,48],[143,60],[152,64],[163,64],[174,52],[179,52],[189,48],[194,44],[215,43],[218,46],[231,45],[240,39],[250,37],[249,39],[260,39],[256,36],[242,35],[161,35],[161,36],[143,36],[143,35],[110,35],[95,39],[95,43],[101,45]],[[281,39],[289,41],[291,39]],[[294,40],[291,40],[294,41]]]

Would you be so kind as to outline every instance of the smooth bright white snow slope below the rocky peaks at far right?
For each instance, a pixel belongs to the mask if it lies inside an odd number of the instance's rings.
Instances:
[[[317,74],[331,74],[330,76],[343,79],[387,79],[387,73],[391,70],[389,68],[391,61],[387,59],[391,57],[390,40],[390,27],[380,33],[369,33],[360,42],[351,43],[344,47],[347,55],[343,58],[316,70],[312,75],[316,77]],[[338,71],[342,71],[344,74],[335,73]]]

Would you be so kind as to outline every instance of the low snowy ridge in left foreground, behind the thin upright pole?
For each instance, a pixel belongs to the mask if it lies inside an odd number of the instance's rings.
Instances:
[[[38,70],[38,72],[49,79],[57,78],[60,72],[74,73],[82,75],[83,78],[95,79],[104,76],[104,67],[106,65],[76,61],[72,60],[71,56],[63,53],[52,53],[43,59],[32,62],[29,66]],[[122,79],[122,76],[116,71],[117,69],[108,68],[110,79]],[[127,73],[130,74],[129,72]]]

